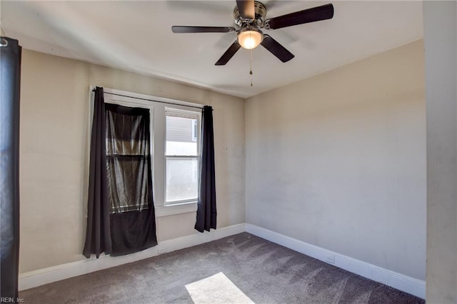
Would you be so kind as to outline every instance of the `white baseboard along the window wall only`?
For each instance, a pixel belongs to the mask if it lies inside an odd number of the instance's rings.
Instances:
[[[122,255],[111,257],[109,255],[101,255],[100,258],[90,258],[87,260],[78,260],[72,263],[56,265],[49,268],[30,271],[28,273],[21,273],[19,275],[19,290],[26,290],[40,285],[72,278],[77,275],[84,275],[92,273],[97,270],[111,268],[126,263],[143,260],[144,258],[151,258],[153,256],[169,253],[174,250],[189,248],[194,245],[211,242],[211,240],[219,240],[229,235],[235,235],[246,231],[245,224],[237,224],[233,226],[218,228],[211,230],[211,233],[195,233],[186,235],[181,238],[174,238],[172,240],[164,240],[159,242],[158,245],[129,255]],[[82,254],[82,253],[81,253]]]

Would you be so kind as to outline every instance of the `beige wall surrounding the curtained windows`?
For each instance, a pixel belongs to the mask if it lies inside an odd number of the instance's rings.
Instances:
[[[245,221],[242,98],[26,49],[21,69],[20,273],[84,258],[90,85],[213,106],[218,228]],[[157,218],[159,242],[194,224]]]

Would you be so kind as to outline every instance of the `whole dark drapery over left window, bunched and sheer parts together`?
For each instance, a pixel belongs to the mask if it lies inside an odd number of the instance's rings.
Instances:
[[[125,255],[157,245],[149,110],[94,97],[84,256]]]

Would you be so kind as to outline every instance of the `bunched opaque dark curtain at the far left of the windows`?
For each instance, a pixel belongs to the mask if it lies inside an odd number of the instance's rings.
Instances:
[[[106,180],[105,103],[103,88],[97,87],[94,96],[94,119],[91,133],[89,165],[89,198],[87,202],[86,243],[83,254],[111,253],[109,202]]]

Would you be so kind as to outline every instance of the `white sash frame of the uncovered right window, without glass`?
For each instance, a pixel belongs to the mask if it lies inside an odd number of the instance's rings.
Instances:
[[[192,127],[191,127],[191,138],[192,140],[194,139],[194,135],[196,135],[196,146],[197,146],[197,153],[196,153],[196,156],[169,156],[166,154],[166,123],[165,123],[165,150],[164,150],[164,156],[165,156],[165,196],[164,196],[164,206],[174,206],[174,205],[179,205],[179,204],[183,204],[183,203],[197,203],[197,200],[199,199],[199,193],[197,193],[197,197],[196,198],[191,198],[189,200],[181,200],[181,201],[171,201],[171,202],[168,202],[166,201],[166,160],[167,158],[196,158],[196,161],[197,163],[199,163],[199,158],[200,158],[200,146],[199,146],[199,140],[200,140],[200,130],[199,130],[199,126],[201,124],[201,112],[196,112],[196,111],[183,111],[183,110],[179,110],[179,109],[176,109],[176,108],[172,108],[172,107],[169,107],[169,106],[166,106],[165,107],[165,122],[166,122],[166,116],[167,116],[167,113],[175,113],[175,116],[177,117],[180,117],[180,114],[181,116],[194,116],[194,118],[196,119],[196,134],[194,134],[194,123],[192,123]],[[191,117],[189,117],[190,119],[193,119]],[[192,141],[194,142],[194,141]],[[197,176],[197,183],[199,182],[198,181],[198,178],[199,176]]]

